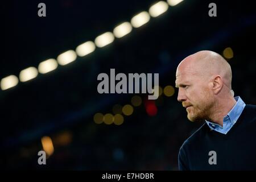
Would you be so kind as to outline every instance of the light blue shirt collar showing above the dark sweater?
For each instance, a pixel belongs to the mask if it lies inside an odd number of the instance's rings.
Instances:
[[[229,113],[227,115],[225,115],[225,117],[223,118],[223,127],[216,123],[209,122],[209,121],[205,120],[211,130],[217,131],[222,134],[227,134],[228,131],[237,122],[237,119],[240,117],[243,109],[245,108],[245,102],[243,102],[243,100],[239,96],[234,97],[234,99],[237,101],[237,103],[229,111]]]

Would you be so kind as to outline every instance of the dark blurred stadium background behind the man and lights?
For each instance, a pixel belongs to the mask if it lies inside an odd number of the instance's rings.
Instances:
[[[40,2],[46,4],[46,17],[38,16]],[[3,1],[0,79],[18,77],[25,68],[38,68],[44,60],[94,41],[155,2]],[[217,17],[208,16],[210,2],[217,5]],[[177,89],[156,101],[147,101],[147,94],[99,94],[98,74],[109,75],[110,68],[116,74],[159,73],[164,89],[175,86],[176,67],[184,57],[208,49],[229,61],[235,96],[255,105],[255,25],[253,1],[184,0],[108,46],[0,89],[1,168],[177,170],[181,144],[202,124],[188,121]],[[135,95],[142,99],[139,106],[131,104]],[[117,104],[134,109],[122,114],[121,125],[94,122],[94,114],[113,114]],[[45,136],[54,152],[40,166]]]

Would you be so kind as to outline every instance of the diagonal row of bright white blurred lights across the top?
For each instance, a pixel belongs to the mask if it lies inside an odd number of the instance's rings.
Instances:
[[[12,88],[18,84],[18,82],[26,82],[32,80],[38,73],[45,74],[55,70],[59,65],[66,65],[76,60],[77,56],[83,57],[92,53],[96,46],[99,48],[105,47],[108,44],[112,43],[115,38],[122,38],[123,36],[129,34],[134,28],[138,28],[146,24],[150,20],[150,16],[157,17],[168,10],[168,4],[170,6],[175,6],[183,0],[168,0],[167,2],[159,1],[152,5],[147,11],[142,11],[141,13],[135,15],[131,18],[131,22],[124,22],[119,24],[114,28],[112,32],[105,32],[104,34],[97,36],[97,38],[92,41],[85,42],[80,46],[77,46],[76,51],[69,50],[64,53],[61,53],[57,56],[57,60],[48,59],[43,61],[38,65],[38,68],[29,67],[23,69],[19,73],[19,79],[15,75],[10,75],[1,80],[1,89],[6,90]]]

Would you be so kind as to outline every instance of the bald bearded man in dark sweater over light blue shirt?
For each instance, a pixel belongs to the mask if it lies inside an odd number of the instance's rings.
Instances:
[[[190,121],[205,120],[180,147],[180,170],[256,169],[256,106],[233,97],[231,82],[230,65],[216,52],[197,52],[177,67],[177,100]]]

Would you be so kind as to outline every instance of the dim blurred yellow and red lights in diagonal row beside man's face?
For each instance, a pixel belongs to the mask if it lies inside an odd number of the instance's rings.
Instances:
[[[164,87],[164,89],[161,88],[161,86],[157,86],[154,89],[159,90],[159,97],[164,93],[165,96],[171,97],[175,93],[175,89],[171,85],[167,85]],[[129,116],[133,114],[134,107],[141,106],[142,104],[142,98],[140,96],[133,96],[131,98],[131,105],[127,104],[125,106],[121,106],[119,104],[116,104],[113,106],[113,114],[112,113],[107,113],[107,114],[102,114],[102,113],[96,113],[94,114],[93,120],[96,124],[101,124],[105,123],[106,125],[122,125],[124,121],[123,115]],[[144,102],[144,105],[146,107],[147,114],[150,116],[154,116],[157,113],[157,108],[155,106],[155,101],[152,100],[146,100]]]

